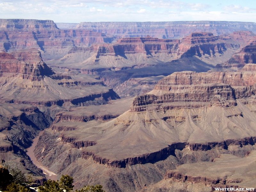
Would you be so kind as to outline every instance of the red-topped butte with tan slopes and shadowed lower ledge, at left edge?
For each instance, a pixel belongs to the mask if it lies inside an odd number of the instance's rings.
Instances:
[[[70,107],[93,102],[102,104],[119,98],[112,89],[96,83],[96,79],[95,83],[92,80],[86,83],[86,75],[83,77],[72,72],[54,74],[35,49],[0,53],[0,69],[1,102]],[[71,76],[77,77],[72,79]]]

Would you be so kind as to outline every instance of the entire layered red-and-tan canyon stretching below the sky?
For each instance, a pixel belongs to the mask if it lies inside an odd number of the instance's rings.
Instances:
[[[0,20],[0,159],[42,184],[41,133],[75,188],[255,188],[255,25]]]

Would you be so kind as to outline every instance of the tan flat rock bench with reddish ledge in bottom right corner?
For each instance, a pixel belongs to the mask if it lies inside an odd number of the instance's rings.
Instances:
[[[183,164],[166,172],[165,179],[174,182],[200,183],[215,188],[253,188],[255,190],[254,164],[256,151],[246,157],[222,154],[213,162]],[[247,190],[247,191],[250,191]]]

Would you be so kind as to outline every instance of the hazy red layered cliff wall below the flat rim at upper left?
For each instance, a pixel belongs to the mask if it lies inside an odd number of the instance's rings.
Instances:
[[[105,34],[89,30],[60,30],[51,20],[0,20],[0,50],[36,48],[44,60],[61,58],[75,46],[103,43]]]

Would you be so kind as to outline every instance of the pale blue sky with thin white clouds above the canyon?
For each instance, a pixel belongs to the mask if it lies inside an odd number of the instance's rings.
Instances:
[[[0,0],[1,19],[256,22],[255,0]]]

